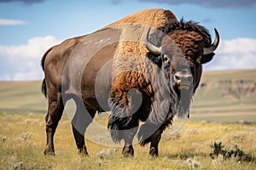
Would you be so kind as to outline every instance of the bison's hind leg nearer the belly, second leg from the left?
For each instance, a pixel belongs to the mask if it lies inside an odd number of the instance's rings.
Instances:
[[[91,110],[89,108],[85,108],[84,103],[77,102],[77,110],[75,115],[73,116],[72,126],[73,126],[73,136],[79,150],[79,153],[83,155],[88,155],[86,145],[84,142],[84,133],[86,128],[89,126],[90,122],[92,122],[96,111]]]

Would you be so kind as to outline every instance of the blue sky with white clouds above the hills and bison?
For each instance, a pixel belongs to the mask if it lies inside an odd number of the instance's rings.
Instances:
[[[0,0],[0,81],[43,79],[48,48],[146,8],[195,20],[212,39],[218,29],[221,42],[205,71],[256,69],[255,0]]]

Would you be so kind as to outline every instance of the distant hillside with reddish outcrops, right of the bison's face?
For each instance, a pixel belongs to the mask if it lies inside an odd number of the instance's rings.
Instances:
[[[192,120],[203,117],[210,122],[256,122],[256,70],[204,72],[191,108]]]

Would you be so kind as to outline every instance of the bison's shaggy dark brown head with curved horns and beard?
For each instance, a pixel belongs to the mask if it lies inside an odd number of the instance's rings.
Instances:
[[[158,30],[151,34],[150,41],[148,28],[145,36],[147,57],[164,68],[177,98],[177,116],[189,117],[189,106],[201,80],[202,65],[212,60],[213,51],[218,48],[218,31],[214,29],[215,40],[212,42],[207,29],[192,21],[181,20]],[[153,42],[159,42],[160,47]]]

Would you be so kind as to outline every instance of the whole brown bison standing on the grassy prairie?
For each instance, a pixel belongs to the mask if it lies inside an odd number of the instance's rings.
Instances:
[[[158,156],[161,134],[173,117],[189,117],[202,65],[212,60],[218,42],[216,29],[212,42],[198,23],[147,9],[49,48],[41,62],[42,92],[48,98],[44,154],[55,155],[55,129],[73,99],[79,152],[88,154],[84,133],[96,111],[111,111],[108,129],[113,141],[124,140],[124,156],[134,155],[136,134],[140,144],[150,143],[149,154]]]

